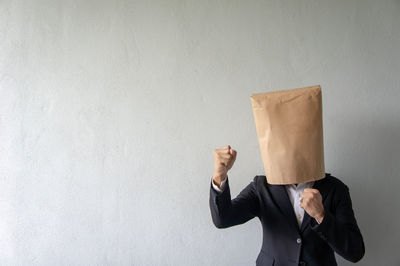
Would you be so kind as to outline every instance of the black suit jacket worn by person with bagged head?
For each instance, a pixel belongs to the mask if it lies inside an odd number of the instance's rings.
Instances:
[[[334,252],[351,262],[365,253],[348,187],[326,173],[314,182],[322,195],[324,219],[318,224],[304,212],[301,228],[284,185],[270,185],[256,176],[231,200],[229,180],[222,192],[210,187],[210,209],[216,227],[227,228],[258,217],[263,243],[256,265],[337,265]]]

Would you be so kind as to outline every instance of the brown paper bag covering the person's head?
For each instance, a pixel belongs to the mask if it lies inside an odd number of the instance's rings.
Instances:
[[[267,182],[325,177],[321,87],[257,93],[251,103]]]

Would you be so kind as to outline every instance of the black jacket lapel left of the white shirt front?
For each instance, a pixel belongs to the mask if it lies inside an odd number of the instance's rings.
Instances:
[[[293,206],[290,202],[285,185],[270,185],[270,191],[276,204],[281,212],[287,217],[289,223],[294,226],[296,230],[299,230],[299,225],[297,224]]]

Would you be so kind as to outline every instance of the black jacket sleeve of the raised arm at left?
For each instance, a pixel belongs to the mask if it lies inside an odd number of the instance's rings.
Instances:
[[[210,210],[213,223],[218,228],[243,224],[258,216],[259,202],[256,194],[256,177],[233,200],[231,200],[228,179],[222,192],[213,189],[211,183]]]

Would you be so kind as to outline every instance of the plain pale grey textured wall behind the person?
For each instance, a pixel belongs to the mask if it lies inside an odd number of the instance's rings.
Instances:
[[[0,265],[254,265],[263,174],[252,93],[320,84],[326,170],[349,187],[360,265],[399,265],[400,1],[0,1]],[[340,259],[341,265],[351,265]]]

